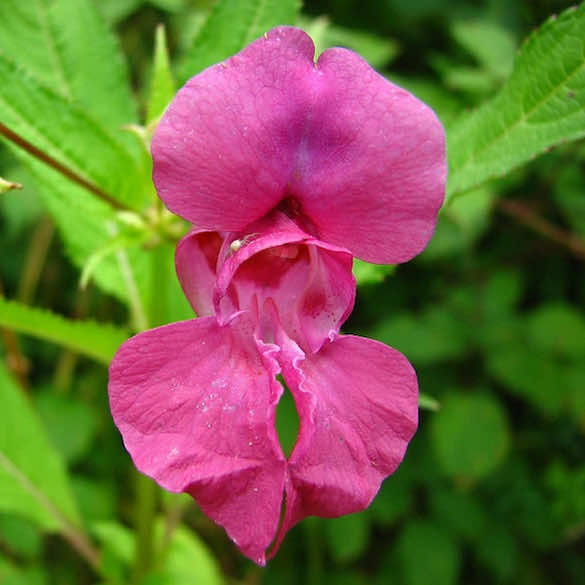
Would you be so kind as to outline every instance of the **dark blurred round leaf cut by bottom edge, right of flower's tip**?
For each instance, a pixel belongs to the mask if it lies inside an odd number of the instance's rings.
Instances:
[[[461,555],[449,533],[425,520],[407,523],[397,542],[403,583],[456,585]]]

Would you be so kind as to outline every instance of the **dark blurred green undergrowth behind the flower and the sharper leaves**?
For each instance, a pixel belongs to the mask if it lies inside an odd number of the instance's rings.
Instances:
[[[96,4],[121,39],[144,103],[156,25],[166,25],[171,56],[180,62],[212,3]],[[497,92],[522,40],[568,6],[307,0],[302,25],[322,47],[361,53],[449,127]],[[118,300],[92,284],[80,290],[29,172],[1,145],[0,175],[24,185],[0,196],[6,297],[124,323]],[[161,515],[182,519],[169,561],[174,572],[143,582],[585,583],[584,262],[581,141],[455,201],[427,250],[391,274],[360,265],[356,309],[344,331],[402,351],[432,398],[403,465],[370,509],[295,527],[266,569],[243,559],[188,499],[163,496]],[[96,577],[60,537],[0,513],[0,584],[127,582],[135,478],[109,415],[106,368],[8,329],[1,330],[0,355],[72,474],[109,575]],[[285,401],[279,425],[289,441],[294,419]]]

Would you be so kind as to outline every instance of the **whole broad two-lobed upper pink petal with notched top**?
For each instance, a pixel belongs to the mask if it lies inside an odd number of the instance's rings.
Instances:
[[[355,53],[313,57],[303,31],[280,27],[192,78],[153,138],[157,191],[220,231],[286,200],[320,239],[373,262],[408,260],[443,201],[442,126]]]

